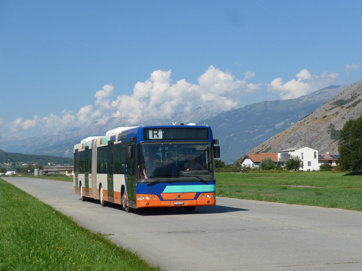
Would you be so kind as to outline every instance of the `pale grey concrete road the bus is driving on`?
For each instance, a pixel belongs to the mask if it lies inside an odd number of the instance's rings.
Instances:
[[[71,182],[3,179],[165,270],[362,270],[362,212],[217,198],[127,214],[81,202]]]

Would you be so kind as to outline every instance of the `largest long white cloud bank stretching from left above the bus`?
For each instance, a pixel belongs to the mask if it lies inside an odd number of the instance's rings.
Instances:
[[[155,70],[144,82],[137,82],[132,95],[121,94],[115,100],[113,85],[104,85],[94,95],[94,104],[83,106],[73,114],[64,109],[59,117],[51,113],[49,117],[33,120],[18,118],[8,126],[17,133],[20,129],[27,133],[55,134],[71,128],[85,127],[91,123],[104,125],[111,117],[117,117],[126,125],[139,124],[149,119],[172,119],[176,111],[190,112],[196,107],[210,113],[219,113],[240,105],[240,97],[256,93],[262,84],[247,82],[255,77],[253,72],[245,72],[239,80],[229,72],[210,66],[198,78],[198,84],[180,79],[172,84],[171,70]]]

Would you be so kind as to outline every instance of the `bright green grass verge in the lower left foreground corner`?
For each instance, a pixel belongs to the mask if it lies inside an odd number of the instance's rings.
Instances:
[[[0,270],[160,270],[0,179]]]

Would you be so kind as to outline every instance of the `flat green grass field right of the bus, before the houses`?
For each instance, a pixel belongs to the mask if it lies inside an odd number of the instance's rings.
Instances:
[[[216,196],[256,201],[362,211],[361,188],[358,173],[216,173]]]

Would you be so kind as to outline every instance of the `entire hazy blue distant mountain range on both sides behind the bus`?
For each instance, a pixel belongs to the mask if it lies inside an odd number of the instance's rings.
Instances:
[[[197,108],[189,113],[177,112],[172,120],[147,120],[138,125],[169,125],[171,122],[207,124],[212,127],[214,138],[219,139],[221,159],[226,163],[232,163],[251,149],[253,152],[257,151],[255,146],[293,126],[349,86],[329,86],[296,99],[270,100],[249,104],[216,116],[202,108]],[[81,139],[88,136],[104,135],[106,131],[121,126],[127,125],[117,118],[112,118],[104,125],[94,124],[83,129],[73,129],[52,136],[23,139],[22,144],[19,144],[17,140],[7,139],[0,141],[0,149],[8,152],[72,158],[73,146],[79,143]],[[340,129],[339,126],[338,129]],[[272,150],[271,145],[259,149],[265,151],[268,148],[270,151]]]

